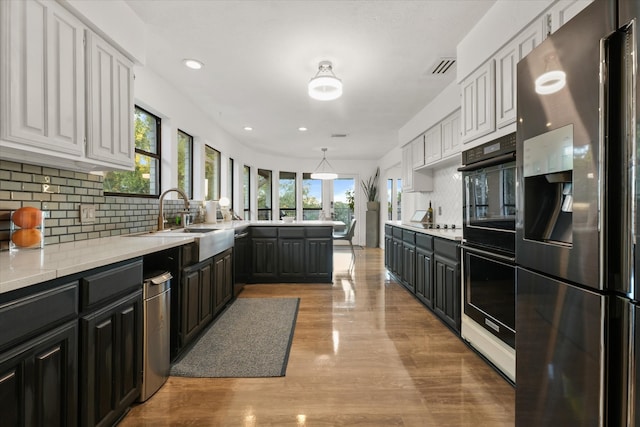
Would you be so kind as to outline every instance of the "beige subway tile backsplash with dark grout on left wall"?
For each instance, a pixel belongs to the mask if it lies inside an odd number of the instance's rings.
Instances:
[[[45,245],[157,227],[157,198],[105,196],[102,181],[101,175],[0,160],[0,249],[8,249],[9,212],[23,206],[45,212]],[[87,204],[95,205],[95,220],[81,223],[80,205]],[[191,201],[192,214],[200,215],[200,206]],[[182,199],[164,200],[168,219],[183,209]]]

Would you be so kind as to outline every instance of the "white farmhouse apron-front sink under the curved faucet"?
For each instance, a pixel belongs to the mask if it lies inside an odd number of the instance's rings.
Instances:
[[[161,230],[131,234],[131,237],[186,237],[194,238],[198,247],[198,261],[204,261],[233,247],[233,229],[220,230],[216,228],[187,227],[173,230]]]

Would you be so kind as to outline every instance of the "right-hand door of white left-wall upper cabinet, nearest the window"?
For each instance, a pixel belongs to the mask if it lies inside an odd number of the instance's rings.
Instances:
[[[133,169],[133,64],[87,32],[87,157]]]

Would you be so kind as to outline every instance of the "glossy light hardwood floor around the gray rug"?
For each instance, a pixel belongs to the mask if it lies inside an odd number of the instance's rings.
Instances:
[[[384,269],[339,248],[333,284],[248,285],[300,297],[286,376],[171,377],[120,426],[513,426],[515,390]]]

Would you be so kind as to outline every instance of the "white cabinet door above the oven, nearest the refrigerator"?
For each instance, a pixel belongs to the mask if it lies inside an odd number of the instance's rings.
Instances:
[[[543,24],[541,21],[536,21],[496,54],[496,126],[498,128],[516,121],[516,65],[542,42],[542,37]]]

